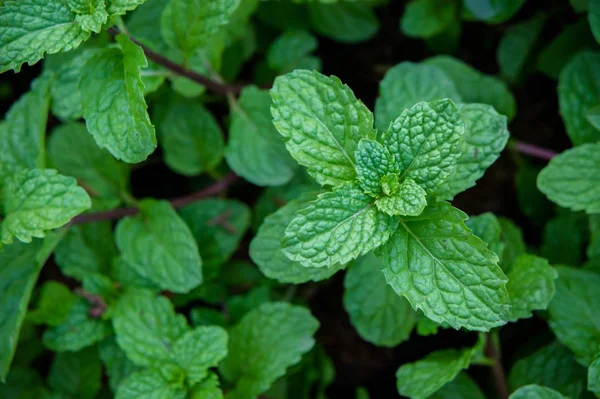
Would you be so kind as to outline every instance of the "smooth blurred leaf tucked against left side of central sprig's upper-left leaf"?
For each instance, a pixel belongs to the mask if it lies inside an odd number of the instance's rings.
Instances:
[[[238,175],[258,186],[285,184],[296,167],[271,122],[270,106],[266,91],[249,86],[231,111],[225,158]]]

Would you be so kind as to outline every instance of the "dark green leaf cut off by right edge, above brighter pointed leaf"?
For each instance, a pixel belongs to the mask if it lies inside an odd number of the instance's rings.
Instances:
[[[586,117],[588,109],[600,104],[600,54],[584,51],[563,68],[558,80],[560,115],[574,145],[600,140],[597,130]]]

